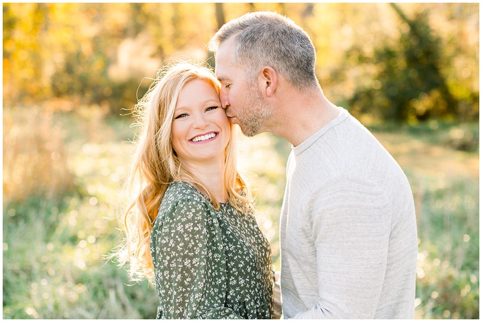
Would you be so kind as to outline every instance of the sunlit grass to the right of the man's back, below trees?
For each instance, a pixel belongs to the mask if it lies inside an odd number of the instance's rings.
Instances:
[[[478,124],[429,122],[371,130],[400,163],[414,193],[416,318],[478,318]],[[461,144],[464,137],[468,143]]]

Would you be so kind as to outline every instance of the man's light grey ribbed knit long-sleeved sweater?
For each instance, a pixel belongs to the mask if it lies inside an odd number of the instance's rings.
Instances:
[[[284,318],[414,318],[413,194],[388,151],[340,108],[293,147],[286,175]]]

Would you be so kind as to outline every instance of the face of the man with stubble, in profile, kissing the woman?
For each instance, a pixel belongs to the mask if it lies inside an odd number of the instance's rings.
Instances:
[[[232,38],[225,40],[216,53],[215,74],[221,82],[220,100],[232,123],[238,124],[247,137],[264,129],[271,117],[258,87],[257,79],[247,77],[245,71],[232,62]]]

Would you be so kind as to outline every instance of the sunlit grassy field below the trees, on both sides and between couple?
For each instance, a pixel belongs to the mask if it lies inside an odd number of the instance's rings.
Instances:
[[[130,120],[101,109],[4,110],[3,317],[153,318],[155,289],[103,260],[121,237],[119,189]],[[400,163],[417,208],[417,318],[478,318],[478,124],[372,125]],[[290,146],[242,137],[241,165],[279,269],[278,225]]]

